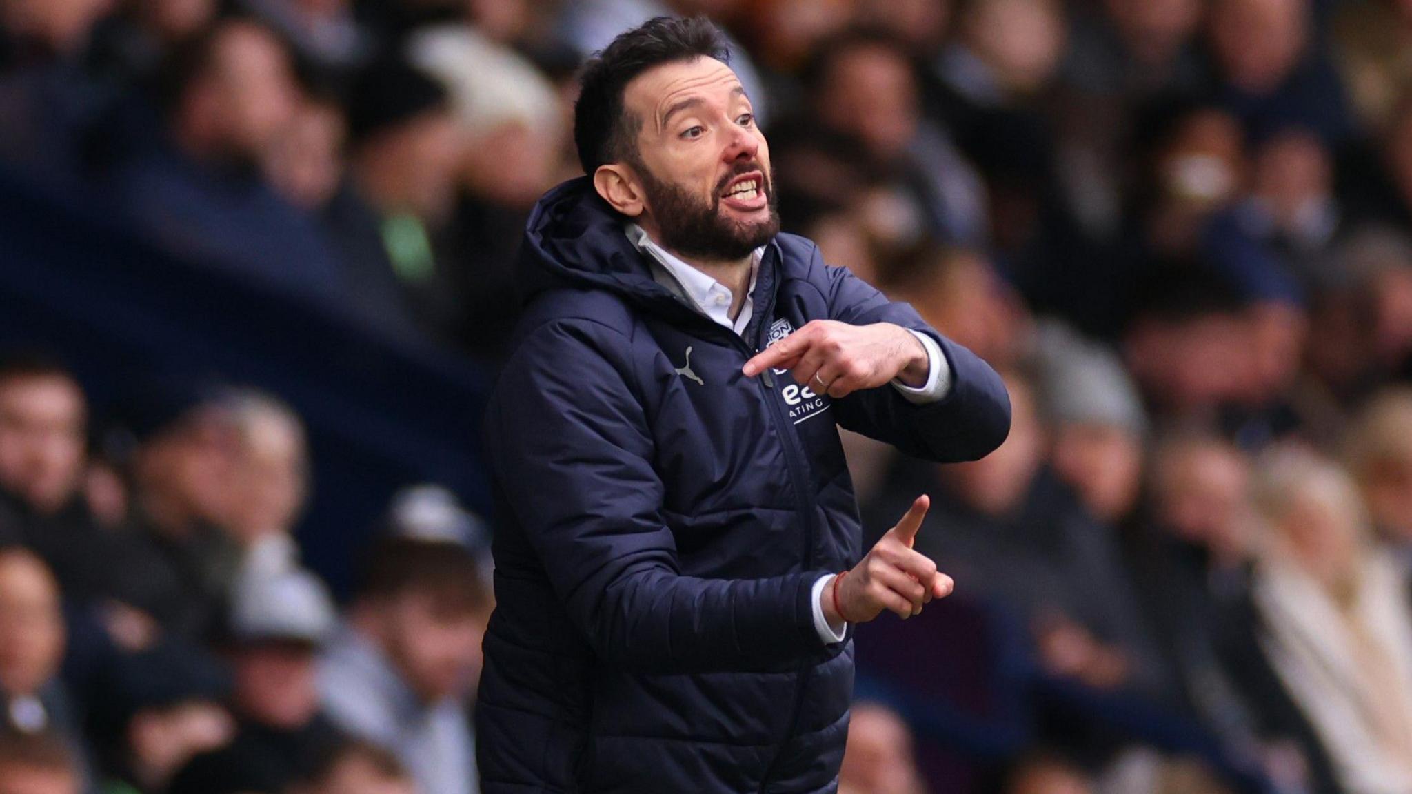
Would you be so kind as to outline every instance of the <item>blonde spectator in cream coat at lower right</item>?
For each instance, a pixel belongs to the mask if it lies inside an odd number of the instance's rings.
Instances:
[[[1254,600],[1261,646],[1348,791],[1412,786],[1408,582],[1375,547],[1353,482],[1298,448],[1262,461]]]

